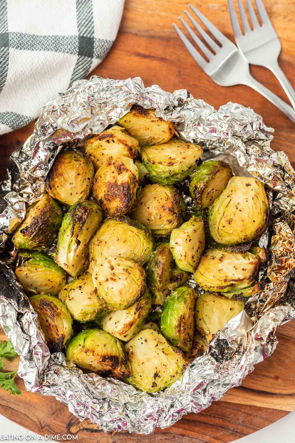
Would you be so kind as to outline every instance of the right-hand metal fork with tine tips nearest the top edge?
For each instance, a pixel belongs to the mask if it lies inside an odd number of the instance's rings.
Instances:
[[[293,108],[295,108],[295,90],[291,83],[281,70],[278,57],[281,52],[281,42],[272,27],[268,15],[265,11],[261,0],[255,0],[257,11],[261,18],[262,26],[258,23],[251,0],[247,0],[249,16],[252,22],[253,31],[249,27],[248,19],[241,0],[238,0],[241,20],[243,23],[244,33],[242,34],[238,19],[234,10],[232,0],[227,0],[230,10],[230,20],[234,31],[237,46],[249,63],[253,65],[265,66],[270,69],[280,84],[283,86],[285,93],[289,97]]]

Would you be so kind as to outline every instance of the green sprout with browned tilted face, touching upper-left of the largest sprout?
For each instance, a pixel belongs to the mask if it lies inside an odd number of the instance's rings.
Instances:
[[[196,168],[190,176],[188,187],[192,199],[200,208],[208,208],[225,189],[232,177],[229,164],[208,160]]]

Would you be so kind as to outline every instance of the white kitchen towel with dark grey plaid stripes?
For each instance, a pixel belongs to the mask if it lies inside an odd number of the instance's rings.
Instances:
[[[0,134],[85,77],[111,49],[124,0],[0,0]]]

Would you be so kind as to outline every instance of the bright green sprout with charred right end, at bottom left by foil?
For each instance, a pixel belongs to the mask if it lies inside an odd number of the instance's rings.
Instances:
[[[86,329],[67,348],[67,358],[82,369],[123,380],[129,376],[123,344],[101,329]]]

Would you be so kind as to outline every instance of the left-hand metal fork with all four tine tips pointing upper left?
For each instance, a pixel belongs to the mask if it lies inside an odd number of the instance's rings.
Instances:
[[[276,94],[272,93],[272,91],[265,88],[265,86],[261,85],[261,83],[257,82],[257,80],[252,77],[249,71],[249,63],[247,62],[245,57],[240,54],[236,45],[234,45],[234,43],[227,39],[226,36],[223,35],[222,32],[220,32],[194,6],[189,5],[189,7],[192,9],[195,15],[199,17],[201,22],[203,22],[203,24],[207,27],[207,29],[211,32],[215,39],[218,40],[218,42],[222,45],[221,47],[218,46],[218,44],[216,44],[215,41],[211,39],[210,35],[208,35],[207,32],[203,30],[199,23],[197,23],[187,11],[184,11],[184,13],[191,20],[197,31],[199,31],[199,33],[202,35],[208,46],[211,47],[211,49],[215,52],[215,54],[213,54],[211,51],[209,51],[209,49],[203,44],[199,37],[195,35],[188,24],[181,17],[179,17],[181,23],[183,23],[184,27],[187,29],[188,33],[191,35],[196,45],[208,58],[209,62],[207,62],[205,58],[203,58],[195,49],[192,43],[186,38],[183,32],[180,31],[179,27],[176,26],[175,23],[173,23],[177,34],[184,43],[184,46],[188,49],[188,52],[192,55],[192,57],[195,59],[195,62],[198,63],[200,68],[202,68],[203,71],[205,71],[205,73],[209,75],[212,80],[218,85],[250,86],[257,92],[261,93],[261,95],[267,98],[270,102],[272,102],[273,105],[276,105],[284,114],[287,115],[287,117],[289,117],[290,120],[293,121],[293,123],[295,123],[294,109],[284,100],[281,100],[280,97],[277,97]]]

